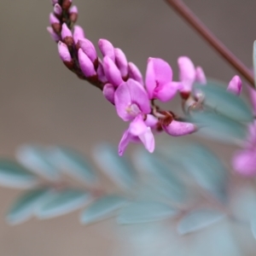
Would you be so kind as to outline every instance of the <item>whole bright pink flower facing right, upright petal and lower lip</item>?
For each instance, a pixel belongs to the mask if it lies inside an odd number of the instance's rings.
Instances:
[[[172,68],[166,61],[148,58],[146,87],[150,100],[167,102],[176,95],[179,84],[172,84]]]

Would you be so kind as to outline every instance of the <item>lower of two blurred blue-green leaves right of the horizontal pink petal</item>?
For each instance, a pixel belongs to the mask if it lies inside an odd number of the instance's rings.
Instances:
[[[199,126],[198,135],[226,143],[241,143],[247,137],[247,126],[218,113],[193,113],[190,121]]]

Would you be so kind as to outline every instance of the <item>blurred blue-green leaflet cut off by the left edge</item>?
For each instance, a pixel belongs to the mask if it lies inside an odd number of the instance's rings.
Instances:
[[[29,189],[38,184],[38,177],[12,160],[0,160],[0,184],[5,187]]]

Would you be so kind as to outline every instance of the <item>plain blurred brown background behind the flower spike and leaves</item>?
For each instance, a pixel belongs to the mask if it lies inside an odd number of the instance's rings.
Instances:
[[[256,2],[184,2],[241,61],[252,66]],[[84,27],[86,37],[95,44],[99,38],[108,38],[142,73],[148,56],[160,57],[171,64],[177,78],[177,57],[189,55],[208,77],[228,82],[236,74],[164,1],[74,3],[79,7],[78,24]],[[117,145],[126,124],[100,90],[77,79],[62,65],[56,44],[46,32],[50,1],[2,0],[0,9],[0,155],[14,158],[15,148],[22,143],[64,144],[89,156],[102,141]],[[119,244],[124,243],[128,230],[135,228],[119,228],[123,234],[119,237],[124,237],[120,241],[113,235],[113,220],[84,227],[75,212],[9,226],[4,214],[19,192],[0,189],[1,255],[126,255]],[[166,244],[174,239],[169,235],[165,236]],[[125,246],[127,253],[132,246]],[[162,247],[158,245],[158,249]]]

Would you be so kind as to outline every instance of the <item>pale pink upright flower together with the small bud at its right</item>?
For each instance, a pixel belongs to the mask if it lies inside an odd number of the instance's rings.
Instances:
[[[182,92],[190,92],[195,82],[206,84],[207,79],[201,67],[194,66],[189,57],[182,56],[177,59],[179,67],[179,80],[182,84]]]

